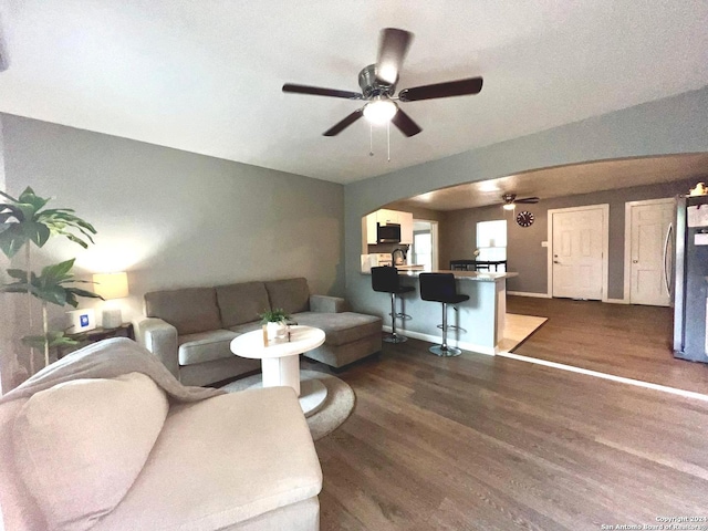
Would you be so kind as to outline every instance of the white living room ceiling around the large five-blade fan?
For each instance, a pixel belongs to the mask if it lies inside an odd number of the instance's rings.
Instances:
[[[477,96],[406,103],[423,133],[364,121],[378,32],[415,33],[398,88],[482,75]],[[0,0],[0,111],[350,183],[708,84],[708,0]]]

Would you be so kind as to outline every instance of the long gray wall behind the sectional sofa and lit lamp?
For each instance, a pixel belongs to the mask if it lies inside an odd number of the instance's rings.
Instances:
[[[163,288],[299,275],[313,292],[344,294],[342,185],[13,115],[0,119],[9,191],[31,185],[97,230],[88,250],[50,242],[41,259],[76,257],[85,274],[127,271],[124,319],[142,312],[146,291]]]

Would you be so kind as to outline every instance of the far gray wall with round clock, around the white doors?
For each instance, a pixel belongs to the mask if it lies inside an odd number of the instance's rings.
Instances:
[[[510,215],[499,206],[444,212],[445,217],[440,222],[440,264],[445,266],[455,259],[472,258],[478,221],[507,219],[508,270],[519,273],[519,277],[509,279],[507,288],[510,291],[546,293],[548,253],[546,249],[541,247],[541,242],[548,240],[548,211],[555,208],[608,204],[610,278],[607,296],[610,299],[623,299],[625,202],[674,197],[677,194],[688,192],[688,189],[695,185],[695,180],[681,180],[678,183],[543,199],[537,205],[517,207],[517,212],[529,210],[535,217],[533,225],[525,228],[519,227],[516,222],[516,214]]]

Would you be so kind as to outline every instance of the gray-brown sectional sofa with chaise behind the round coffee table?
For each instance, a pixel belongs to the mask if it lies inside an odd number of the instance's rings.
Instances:
[[[261,326],[259,314],[282,308],[298,324],[324,330],[324,344],[304,355],[342,367],[381,351],[382,320],[347,312],[344,299],[311,295],[306,279],[241,282],[145,294],[136,339],[186,385],[206,385],[260,368],[233,355],[233,337]]]

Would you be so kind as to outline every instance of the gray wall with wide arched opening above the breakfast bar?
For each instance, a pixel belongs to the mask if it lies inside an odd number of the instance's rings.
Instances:
[[[360,273],[361,218],[382,205],[446,186],[537,168],[708,152],[708,88],[554,127],[345,186],[346,292],[355,309],[385,304]]]

